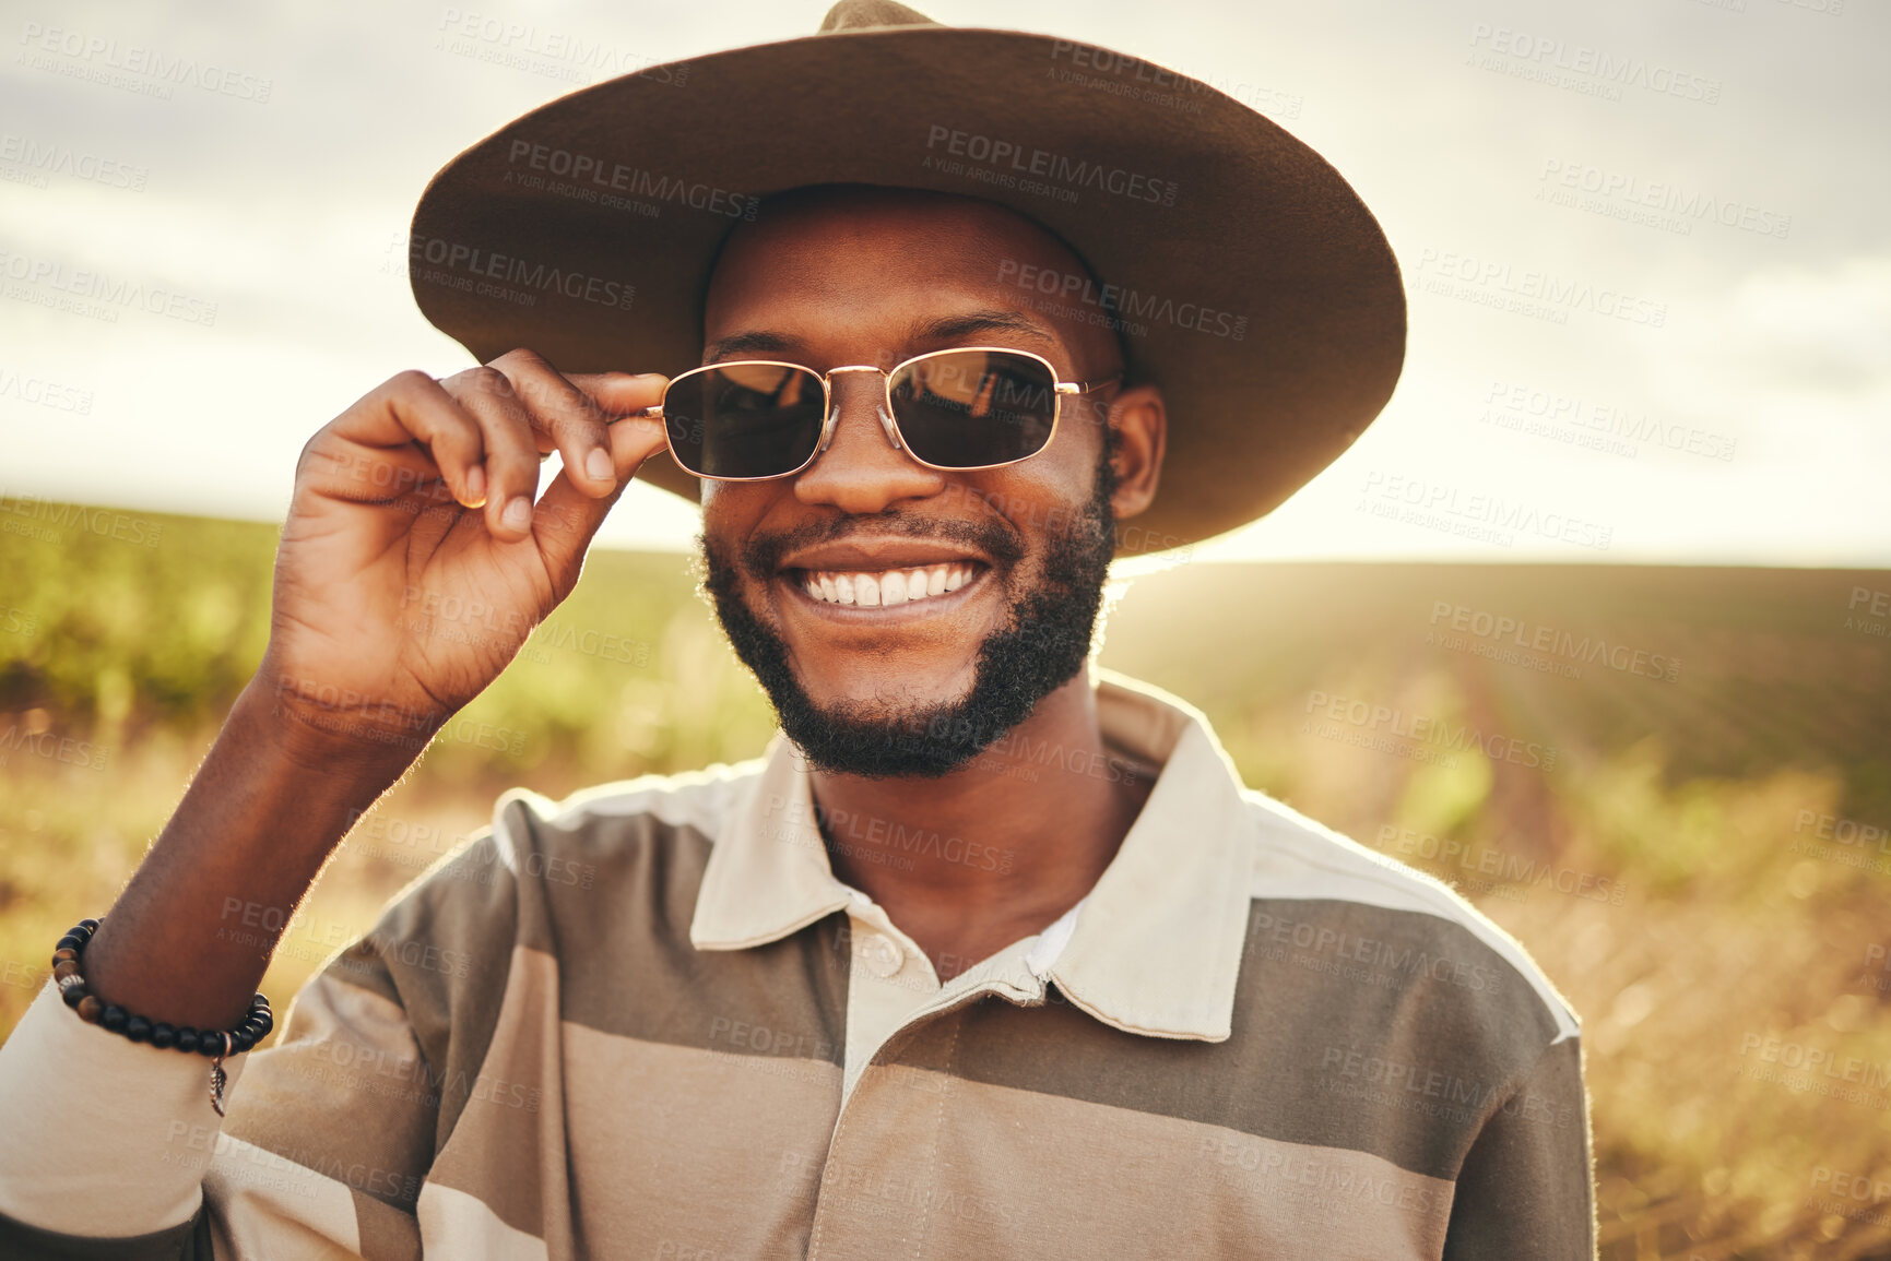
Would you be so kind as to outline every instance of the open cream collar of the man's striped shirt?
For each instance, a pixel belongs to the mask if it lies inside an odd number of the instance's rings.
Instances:
[[[1125,1032],[1222,1042],[1248,926],[1240,779],[1208,720],[1167,692],[1099,671],[1097,718],[1106,743],[1163,769],[1048,977]],[[690,941],[709,951],[762,945],[849,900],[815,826],[807,771],[777,735],[709,851]]]

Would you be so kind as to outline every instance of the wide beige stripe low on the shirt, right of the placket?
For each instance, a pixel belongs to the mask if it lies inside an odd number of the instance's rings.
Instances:
[[[1437,1257],[1452,1185],[1362,1151],[870,1068],[809,1257]]]

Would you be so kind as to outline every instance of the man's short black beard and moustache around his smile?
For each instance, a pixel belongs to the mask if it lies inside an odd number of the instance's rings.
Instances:
[[[853,518],[753,543],[741,550],[739,569],[703,537],[703,586],[736,656],[755,671],[756,682],[775,705],[781,730],[813,768],[866,779],[938,779],[1029,718],[1040,700],[1084,669],[1114,552],[1114,490],[1116,471],[1110,450],[1104,450],[1089,503],[1068,529],[1051,535],[1038,588],[1012,594],[1004,628],[985,635],[972,688],[959,701],[915,705],[898,715],[877,717],[868,717],[866,707],[857,703],[821,709],[794,677],[787,643],[743,601],[741,573],[766,584],[790,546],[841,539],[853,533]],[[942,527],[913,514],[881,514],[874,524],[881,531],[972,543],[993,561],[1010,561],[1008,577],[1015,582],[1015,561],[1023,558],[1023,546],[997,520]]]

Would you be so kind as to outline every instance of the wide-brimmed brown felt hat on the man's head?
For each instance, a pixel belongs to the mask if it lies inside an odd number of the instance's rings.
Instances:
[[[821,34],[647,66],[509,123],[414,210],[420,310],[478,359],[702,361],[715,253],[768,193],[877,183],[983,197],[1085,278],[1019,268],[1019,306],[1112,321],[1169,405],[1161,490],[1119,550],[1250,522],[1379,414],[1405,291],[1371,212],[1244,104],[1106,49],[841,0]],[[668,452],[639,476],[696,499]],[[1135,527],[1135,529],[1133,529]]]

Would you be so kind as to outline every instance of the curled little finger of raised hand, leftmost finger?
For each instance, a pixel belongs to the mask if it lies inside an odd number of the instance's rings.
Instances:
[[[352,503],[390,503],[444,478],[452,497],[486,499],[478,422],[425,372],[401,372],[321,427],[303,448],[297,484]]]

